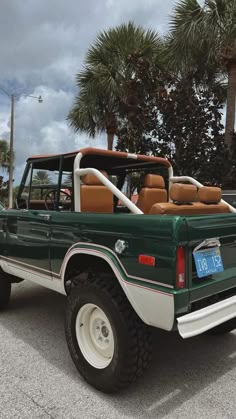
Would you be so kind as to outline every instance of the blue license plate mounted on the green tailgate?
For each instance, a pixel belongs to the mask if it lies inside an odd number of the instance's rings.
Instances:
[[[193,257],[198,278],[203,278],[204,276],[224,270],[219,247],[198,250],[197,252],[193,252]]]

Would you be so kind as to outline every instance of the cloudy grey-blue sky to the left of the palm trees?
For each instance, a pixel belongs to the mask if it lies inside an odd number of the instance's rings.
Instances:
[[[160,33],[167,30],[175,0],[1,0],[0,88],[19,95],[15,104],[15,179],[32,154],[84,146],[105,147],[75,134],[66,116],[75,74],[96,35],[129,20]],[[24,95],[42,95],[39,104]],[[10,99],[0,91],[0,138],[9,140]]]

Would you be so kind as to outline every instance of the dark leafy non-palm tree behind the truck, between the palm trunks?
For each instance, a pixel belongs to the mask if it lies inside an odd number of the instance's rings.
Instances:
[[[146,77],[149,80],[148,71],[140,79],[143,87]],[[218,84],[196,90],[190,77],[187,80],[168,77],[157,94],[152,94],[150,87],[142,117],[137,118],[133,128],[134,135],[124,126],[117,149],[166,156],[175,174],[221,185],[229,169],[222,137],[223,101],[224,90]]]

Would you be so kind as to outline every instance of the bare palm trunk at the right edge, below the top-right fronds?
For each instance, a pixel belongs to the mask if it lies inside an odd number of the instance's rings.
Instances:
[[[225,144],[228,146],[231,155],[232,134],[235,124],[235,101],[236,101],[236,62],[228,65],[228,88],[225,125]]]

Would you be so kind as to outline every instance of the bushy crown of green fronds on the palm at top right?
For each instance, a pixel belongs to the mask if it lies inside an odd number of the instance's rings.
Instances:
[[[170,22],[166,61],[178,71],[194,67],[222,71],[223,52],[235,38],[235,0],[206,0],[202,7],[197,0],[181,0]]]

